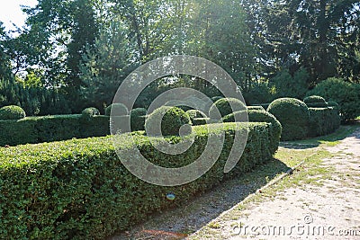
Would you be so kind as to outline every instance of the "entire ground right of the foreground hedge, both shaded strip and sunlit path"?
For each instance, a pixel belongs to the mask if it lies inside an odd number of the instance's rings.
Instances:
[[[275,159],[111,239],[360,239],[360,124],[283,142]]]

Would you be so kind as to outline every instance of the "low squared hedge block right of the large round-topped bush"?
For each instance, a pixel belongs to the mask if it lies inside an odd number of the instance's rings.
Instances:
[[[340,116],[334,108],[309,108],[309,137],[328,135],[340,127]]]

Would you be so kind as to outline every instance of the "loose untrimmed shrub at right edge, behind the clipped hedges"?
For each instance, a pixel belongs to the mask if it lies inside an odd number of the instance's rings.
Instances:
[[[352,120],[360,115],[360,84],[351,84],[341,78],[329,78],[308,95],[320,95],[328,101],[338,102],[340,105],[341,120]]]

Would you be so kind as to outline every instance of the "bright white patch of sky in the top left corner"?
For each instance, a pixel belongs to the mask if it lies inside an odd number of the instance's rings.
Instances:
[[[4,22],[6,31],[14,30],[13,23],[22,27],[26,14],[23,13],[21,5],[35,6],[37,0],[0,0],[0,22]],[[13,22],[13,23],[12,23]]]

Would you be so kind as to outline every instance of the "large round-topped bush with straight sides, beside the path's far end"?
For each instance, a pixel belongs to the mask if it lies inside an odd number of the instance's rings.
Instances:
[[[267,111],[283,126],[282,140],[303,139],[308,136],[309,109],[295,98],[280,98],[271,102]]]

